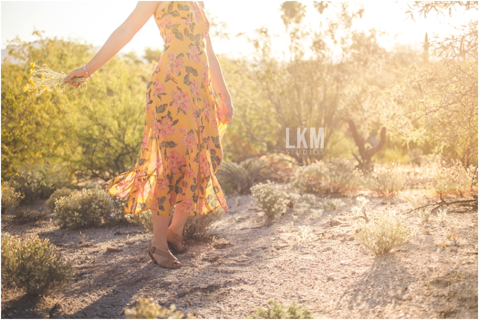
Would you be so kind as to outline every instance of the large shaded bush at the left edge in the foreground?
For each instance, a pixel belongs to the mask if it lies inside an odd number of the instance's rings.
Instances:
[[[70,283],[73,269],[55,245],[37,235],[21,239],[2,233],[2,283],[28,294],[47,294]]]

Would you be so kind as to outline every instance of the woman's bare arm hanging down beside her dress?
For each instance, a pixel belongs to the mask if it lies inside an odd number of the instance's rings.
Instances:
[[[199,1],[198,4],[201,8],[205,8],[205,5],[202,1]],[[213,84],[213,87],[221,100],[220,110],[226,115],[228,118],[227,122],[229,122],[233,117],[231,95],[229,94],[226,83],[224,82],[223,72],[221,71],[218,57],[213,51],[213,45],[211,44],[209,34],[206,36],[206,55],[208,56],[208,64],[210,67],[211,83]]]

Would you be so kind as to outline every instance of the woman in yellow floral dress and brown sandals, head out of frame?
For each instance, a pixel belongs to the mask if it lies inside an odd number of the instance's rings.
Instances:
[[[154,16],[165,43],[146,90],[146,121],[140,158],[103,184],[125,199],[125,213],[153,212],[148,253],[163,268],[182,265],[168,249],[183,251],[188,216],[207,214],[226,201],[215,177],[223,159],[220,138],[233,116],[231,96],[208,35],[203,2],[139,2],[128,17],[73,77],[91,77]],[[221,104],[214,98],[214,87]],[[173,218],[170,226],[170,215]]]

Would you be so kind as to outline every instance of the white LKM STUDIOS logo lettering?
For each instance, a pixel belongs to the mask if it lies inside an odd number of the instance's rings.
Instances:
[[[324,155],[324,127],[309,128],[310,143],[306,142],[306,132],[308,128],[296,128],[296,146],[289,144],[289,127],[286,128],[286,154],[287,155]],[[302,149],[302,145],[304,146]]]

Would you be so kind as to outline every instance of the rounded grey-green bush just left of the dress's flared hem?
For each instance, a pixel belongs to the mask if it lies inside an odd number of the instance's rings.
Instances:
[[[112,197],[100,188],[83,189],[56,201],[57,224],[73,229],[99,227],[116,222],[118,210]]]

